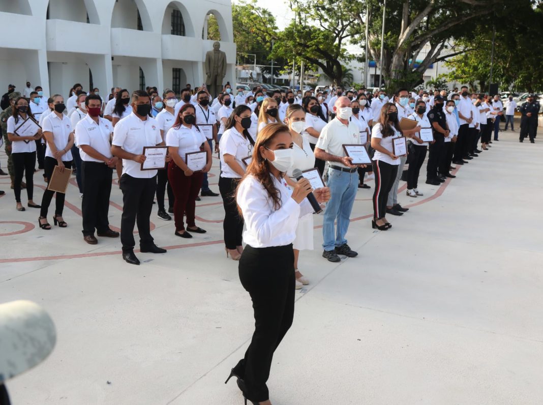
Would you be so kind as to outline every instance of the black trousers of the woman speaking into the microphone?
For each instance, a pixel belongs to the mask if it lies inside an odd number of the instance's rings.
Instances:
[[[263,402],[269,398],[266,382],[273,354],[294,318],[292,244],[264,248],[247,245],[239,260],[239,280],[251,296],[255,332],[234,370],[245,381],[247,398]]]

